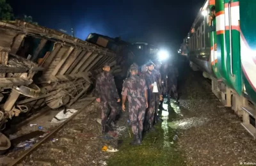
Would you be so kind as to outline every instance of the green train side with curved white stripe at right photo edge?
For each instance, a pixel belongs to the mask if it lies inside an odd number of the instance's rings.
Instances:
[[[234,4],[233,4],[234,6]],[[240,14],[240,43],[241,68],[243,71],[244,93],[248,94],[256,105],[256,22],[255,0],[239,2]]]

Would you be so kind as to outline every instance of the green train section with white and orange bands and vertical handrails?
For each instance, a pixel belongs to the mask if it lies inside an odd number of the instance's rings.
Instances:
[[[239,1],[216,0],[218,70],[223,82],[240,95]]]

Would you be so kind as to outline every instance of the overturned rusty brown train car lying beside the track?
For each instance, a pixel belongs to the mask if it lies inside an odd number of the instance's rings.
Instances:
[[[83,98],[115,52],[46,27],[0,22],[0,129],[13,116]]]

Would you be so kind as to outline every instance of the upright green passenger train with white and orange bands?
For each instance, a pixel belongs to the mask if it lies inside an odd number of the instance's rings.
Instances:
[[[209,20],[212,6],[214,17]],[[180,54],[193,70],[212,80],[212,92],[256,136],[255,0],[207,0],[200,9]],[[211,21],[211,24],[209,22]]]

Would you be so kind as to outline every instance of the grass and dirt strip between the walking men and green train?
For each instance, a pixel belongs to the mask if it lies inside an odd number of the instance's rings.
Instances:
[[[241,126],[241,119],[224,108],[211,93],[202,73],[189,72],[181,87],[180,105],[163,111],[163,123],[145,135],[143,145],[120,151],[108,165],[241,165],[256,163],[256,142]],[[168,105],[164,105],[168,107]],[[178,141],[173,135],[178,131]]]

